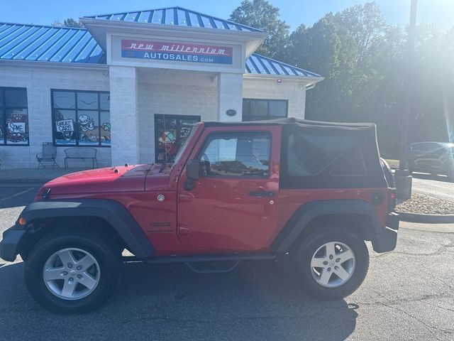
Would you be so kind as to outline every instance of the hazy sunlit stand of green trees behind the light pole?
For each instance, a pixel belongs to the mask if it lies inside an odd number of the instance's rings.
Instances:
[[[453,141],[454,28],[443,35],[421,24],[416,33],[410,141]],[[375,122],[380,150],[397,157],[406,37],[375,3],[299,26],[289,35],[284,61],[325,77],[307,93],[306,118]]]

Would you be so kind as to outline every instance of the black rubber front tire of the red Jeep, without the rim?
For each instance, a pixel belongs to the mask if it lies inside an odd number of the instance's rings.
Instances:
[[[73,301],[55,296],[45,285],[43,278],[43,269],[50,256],[67,248],[88,251],[100,268],[99,282],[92,293]],[[114,245],[85,230],[63,229],[50,232],[40,239],[28,254],[25,266],[28,291],[35,301],[53,313],[79,314],[96,310],[111,297],[118,283],[121,254],[115,250]]]

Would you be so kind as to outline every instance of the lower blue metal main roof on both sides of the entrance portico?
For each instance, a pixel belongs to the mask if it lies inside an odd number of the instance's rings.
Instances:
[[[0,23],[0,60],[106,64],[106,55],[85,28]],[[245,66],[256,75],[320,77],[258,53]]]

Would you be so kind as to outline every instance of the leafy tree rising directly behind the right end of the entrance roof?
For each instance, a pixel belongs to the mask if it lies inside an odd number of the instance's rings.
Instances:
[[[243,0],[230,16],[230,20],[269,34],[257,52],[270,58],[281,55],[287,45],[289,26],[279,16],[279,9],[267,0]]]

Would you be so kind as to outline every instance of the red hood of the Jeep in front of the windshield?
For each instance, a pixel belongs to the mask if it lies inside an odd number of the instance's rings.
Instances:
[[[143,191],[145,178],[148,178],[147,190],[165,189],[169,181],[167,173],[155,173],[150,165],[98,168],[70,173],[49,181],[40,188],[35,200],[40,200],[43,190],[47,188],[50,188],[50,198],[62,194]]]

